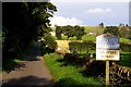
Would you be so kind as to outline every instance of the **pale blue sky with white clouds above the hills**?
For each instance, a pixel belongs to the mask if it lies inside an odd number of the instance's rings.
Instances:
[[[58,12],[50,20],[55,25],[129,24],[130,0],[50,0]]]

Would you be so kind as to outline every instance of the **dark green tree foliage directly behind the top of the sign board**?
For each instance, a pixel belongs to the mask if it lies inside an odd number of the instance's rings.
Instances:
[[[104,34],[110,33],[115,36],[119,36],[119,28],[117,26],[106,26],[104,29]]]

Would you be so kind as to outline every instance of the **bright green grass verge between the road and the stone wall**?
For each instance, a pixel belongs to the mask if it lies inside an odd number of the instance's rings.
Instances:
[[[45,62],[52,73],[57,86],[66,85],[104,85],[104,82],[95,77],[84,77],[81,66],[66,64],[62,57],[51,53],[45,54]],[[62,87],[62,86],[60,86]]]

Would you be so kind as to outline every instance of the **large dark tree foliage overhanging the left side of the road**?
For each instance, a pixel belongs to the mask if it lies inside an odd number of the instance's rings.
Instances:
[[[3,2],[3,58],[16,55],[32,40],[48,34],[55,11],[50,2]]]

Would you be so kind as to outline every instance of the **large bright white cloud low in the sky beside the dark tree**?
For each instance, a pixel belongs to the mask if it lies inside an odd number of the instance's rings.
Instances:
[[[82,21],[75,18],[75,17],[63,17],[63,16],[53,16],[50,17],[50,24],[51,26],[59,25],[59,26],[64,26],[64,25],[81,25]]]

